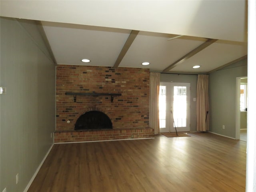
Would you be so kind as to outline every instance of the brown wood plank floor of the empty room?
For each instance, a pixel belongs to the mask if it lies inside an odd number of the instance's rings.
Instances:
[[[55,144],[28,192],[244,192],[246,142],[189,134]]]

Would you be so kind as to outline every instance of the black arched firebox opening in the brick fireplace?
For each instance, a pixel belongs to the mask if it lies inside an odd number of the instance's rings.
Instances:
[[[112,129],[110,118],[101,111],[88,111],[76,121],[75,130]]]

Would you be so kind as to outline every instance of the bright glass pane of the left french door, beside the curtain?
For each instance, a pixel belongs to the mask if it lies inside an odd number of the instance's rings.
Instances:
[[[166,86],[160,86],[159,126],[160,128],[166,128]]]

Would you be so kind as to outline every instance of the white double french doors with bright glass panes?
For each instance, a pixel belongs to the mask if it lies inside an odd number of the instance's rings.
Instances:
[[[190,131],[190,83],[161,82],[160,133]]]

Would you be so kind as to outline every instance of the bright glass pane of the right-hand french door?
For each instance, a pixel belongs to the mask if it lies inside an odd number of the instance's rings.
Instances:
[[[174,86],[173,118],[176,127],[186,127],[187,117],[187,88]]]

